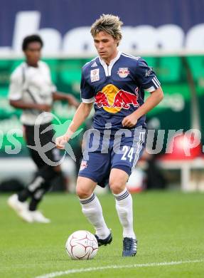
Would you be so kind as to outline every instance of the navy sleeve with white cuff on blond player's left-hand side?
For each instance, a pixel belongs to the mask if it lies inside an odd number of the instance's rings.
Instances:
[[[81,99],[83,103],[95,102],[95,93],[91,88],[90,84],[87,83],[87,81],[85,80],[83,71],[82,71],[80,91],[81,91]]]

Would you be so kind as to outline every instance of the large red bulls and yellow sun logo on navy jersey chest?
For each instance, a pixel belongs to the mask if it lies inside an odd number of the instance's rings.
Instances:
[[[109,113],[118,113],[122,109],[129,109],[131,105],[139,107],[138,88],[135,94],[119,90],[116,86],[109,84],[95,96],[95,104]]]

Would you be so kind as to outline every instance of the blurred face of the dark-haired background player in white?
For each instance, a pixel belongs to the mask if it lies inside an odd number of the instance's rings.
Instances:
[[[41,43],[38,41],[33,41],[32,43],[28,43],[26,50],[24,51],[26,56],[26,61],[30,66],[37,66],[38,61],[41,58]]]

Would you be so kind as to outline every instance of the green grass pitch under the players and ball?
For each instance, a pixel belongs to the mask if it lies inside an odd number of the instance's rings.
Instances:
[[[90,261],[73,261],[65,252],[65,241],[72,232],[94,232],[82,215],[75,195],[46,195],[41,210],[52,220],[48,225],[23,222],[6,205],[7,198],[8,195],[0,196],[2,278],[38,277],[53,272],[60,273],[47,277],[204,277],[202,193],[153,191],[133,195],[134,227],[139,246],[136,257],[129,258],[122,257],[122,227],[114,197],[100,195],[104,218],[112,228],[113,242],[100,247],[95,259]],[[101,269],[97,269],[99,267]],[[70,273],[72,269],[75,272]]]

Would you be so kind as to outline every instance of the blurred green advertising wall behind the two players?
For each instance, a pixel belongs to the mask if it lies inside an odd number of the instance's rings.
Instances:
[[[183,58],[178,56],[166,57],[144,57],[154,68],[156,75],[161,81],[165,98],[154,110],[148,113],[149,120],[156,119],[159,125],[156,128],[188,130],[190,123],[190,105],[191,96],[187,79],[186,67],[183,65]],[[72,93],[76,98],[80,99],[80,76],[81,68],[90,58],[52,58],[43,59],[50,66],[53,83],[58,91]],[[11,108],[8,101],[9,78],[11,72],[14,71],[23,60],[22,59],[5,59],[0,61],[0,135],[4,134],[3,142],[1,142],[0,155],[4,156],[4,146],[12,145],[6,139],[6,134],[11,128],[21,129],[19,117],[21,110]],[[186,57],[188,68],[193,78],[196,96],[198,98],[201,131],[203,130],[203,93],[204,93],[204,56],[188,56]],[[146,93],[148,96],[149,93]],[[63,123],[65,120],[72,119],[75,110],[68,107],[67,103],[55,103],[53,112]],[[63,126],[62,128],[65,128]],[[64,130],[58,129],[58,133]],[[20,155],[26,155],[23,138],[18,137],[23,144]],[[78,138],[73,140],[75,144]]]

